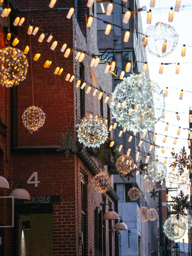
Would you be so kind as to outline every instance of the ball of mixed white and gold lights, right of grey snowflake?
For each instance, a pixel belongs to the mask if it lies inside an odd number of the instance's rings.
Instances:
[[[99,115],[84,117],[77,129],[79,141],[87,147],[99,147],[108,138],[108,130]]]

